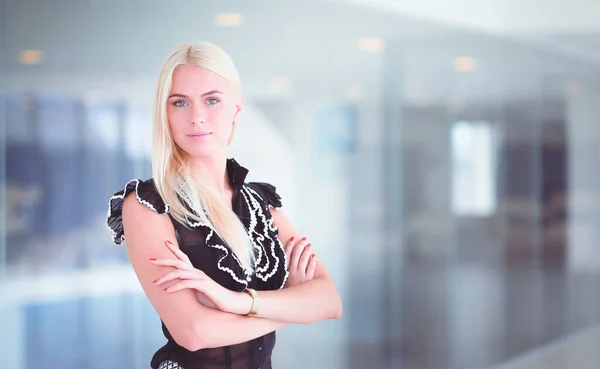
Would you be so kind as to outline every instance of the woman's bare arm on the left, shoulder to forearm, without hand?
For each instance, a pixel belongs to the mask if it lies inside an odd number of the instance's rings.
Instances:
[[[126,247],[133,269],[150,303],[165,323],[175,341],[190,351],[245,342],[285,325],[283,322],[250,318],[203,306],[193,290],[165,293],[164,287],[152,282],[173,267],[158,266],[149,258],[176,259],[164,246],[164,240],[175,240],[168,215],[157,214],[127,196],[123,204],[123,227]]]

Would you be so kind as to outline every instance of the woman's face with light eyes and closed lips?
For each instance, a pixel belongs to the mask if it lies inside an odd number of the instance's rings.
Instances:
[[[228,81],[197,66],[173,72],[167,119],[175,143],[190,157],[225,155],[242,98]]]

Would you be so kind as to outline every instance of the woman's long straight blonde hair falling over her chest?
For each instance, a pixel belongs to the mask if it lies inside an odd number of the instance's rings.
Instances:
[[[167,99],[173,84],[173,71],[180,65],[203,67],[229,81],[241,93],[239,74],[229,55],[209,42],[178,46],[165,60],[158,77],[154,107],[154,147],[152,175],[158,193],[170,205],[171,215],[181,224],[209,225],[233,250],[247,272],[255,263],[253,246],[244,225],[214,191],[203,184],[185,161],[169,129]],[[235,133],[236,124],[229,143]],[[182,202],[183,201],[183,202]],[[185,203],[184,203],[185,202]]]

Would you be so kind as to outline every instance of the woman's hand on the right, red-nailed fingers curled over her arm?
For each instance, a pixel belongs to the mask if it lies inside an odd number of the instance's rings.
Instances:
[[[308,243],[306,237],[299,240],[294,237],[290,238],[285,245],[285,253],[290,274],[284,288],[296,286],[313,279],[317,266],[317,256],[312,252],[312,246]]]

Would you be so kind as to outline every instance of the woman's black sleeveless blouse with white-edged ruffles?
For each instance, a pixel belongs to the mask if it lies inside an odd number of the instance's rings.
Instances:
[[[254,273],[248,273],[231,249],[207,224],[188,222],[187,227],[171,217],[180,249],[188,255],[195,268],[225,288],[243,291],[250,287],[260,290],[283,288],[288,277],[287,260],[277,238],[270,208],[280,208],[281,198],[268,183],[245,183],[248,170],[234,159],[227,160],[227,173],[233,187],[233,211],[248,231],[254,245],[257,262]],[[135,192],[141,204],[159,214],[169,213],[169,205],[159,196],[152,179],[131,180],[125,189],[111,197],[107,224],[117,245],[125,240],[121,211],[127,195]],[[251,341],[218,348],[188,351],[179,346],[163,322],[167,343],[153,356],[153,369],[270,369],[275,345],[275,332]]]

